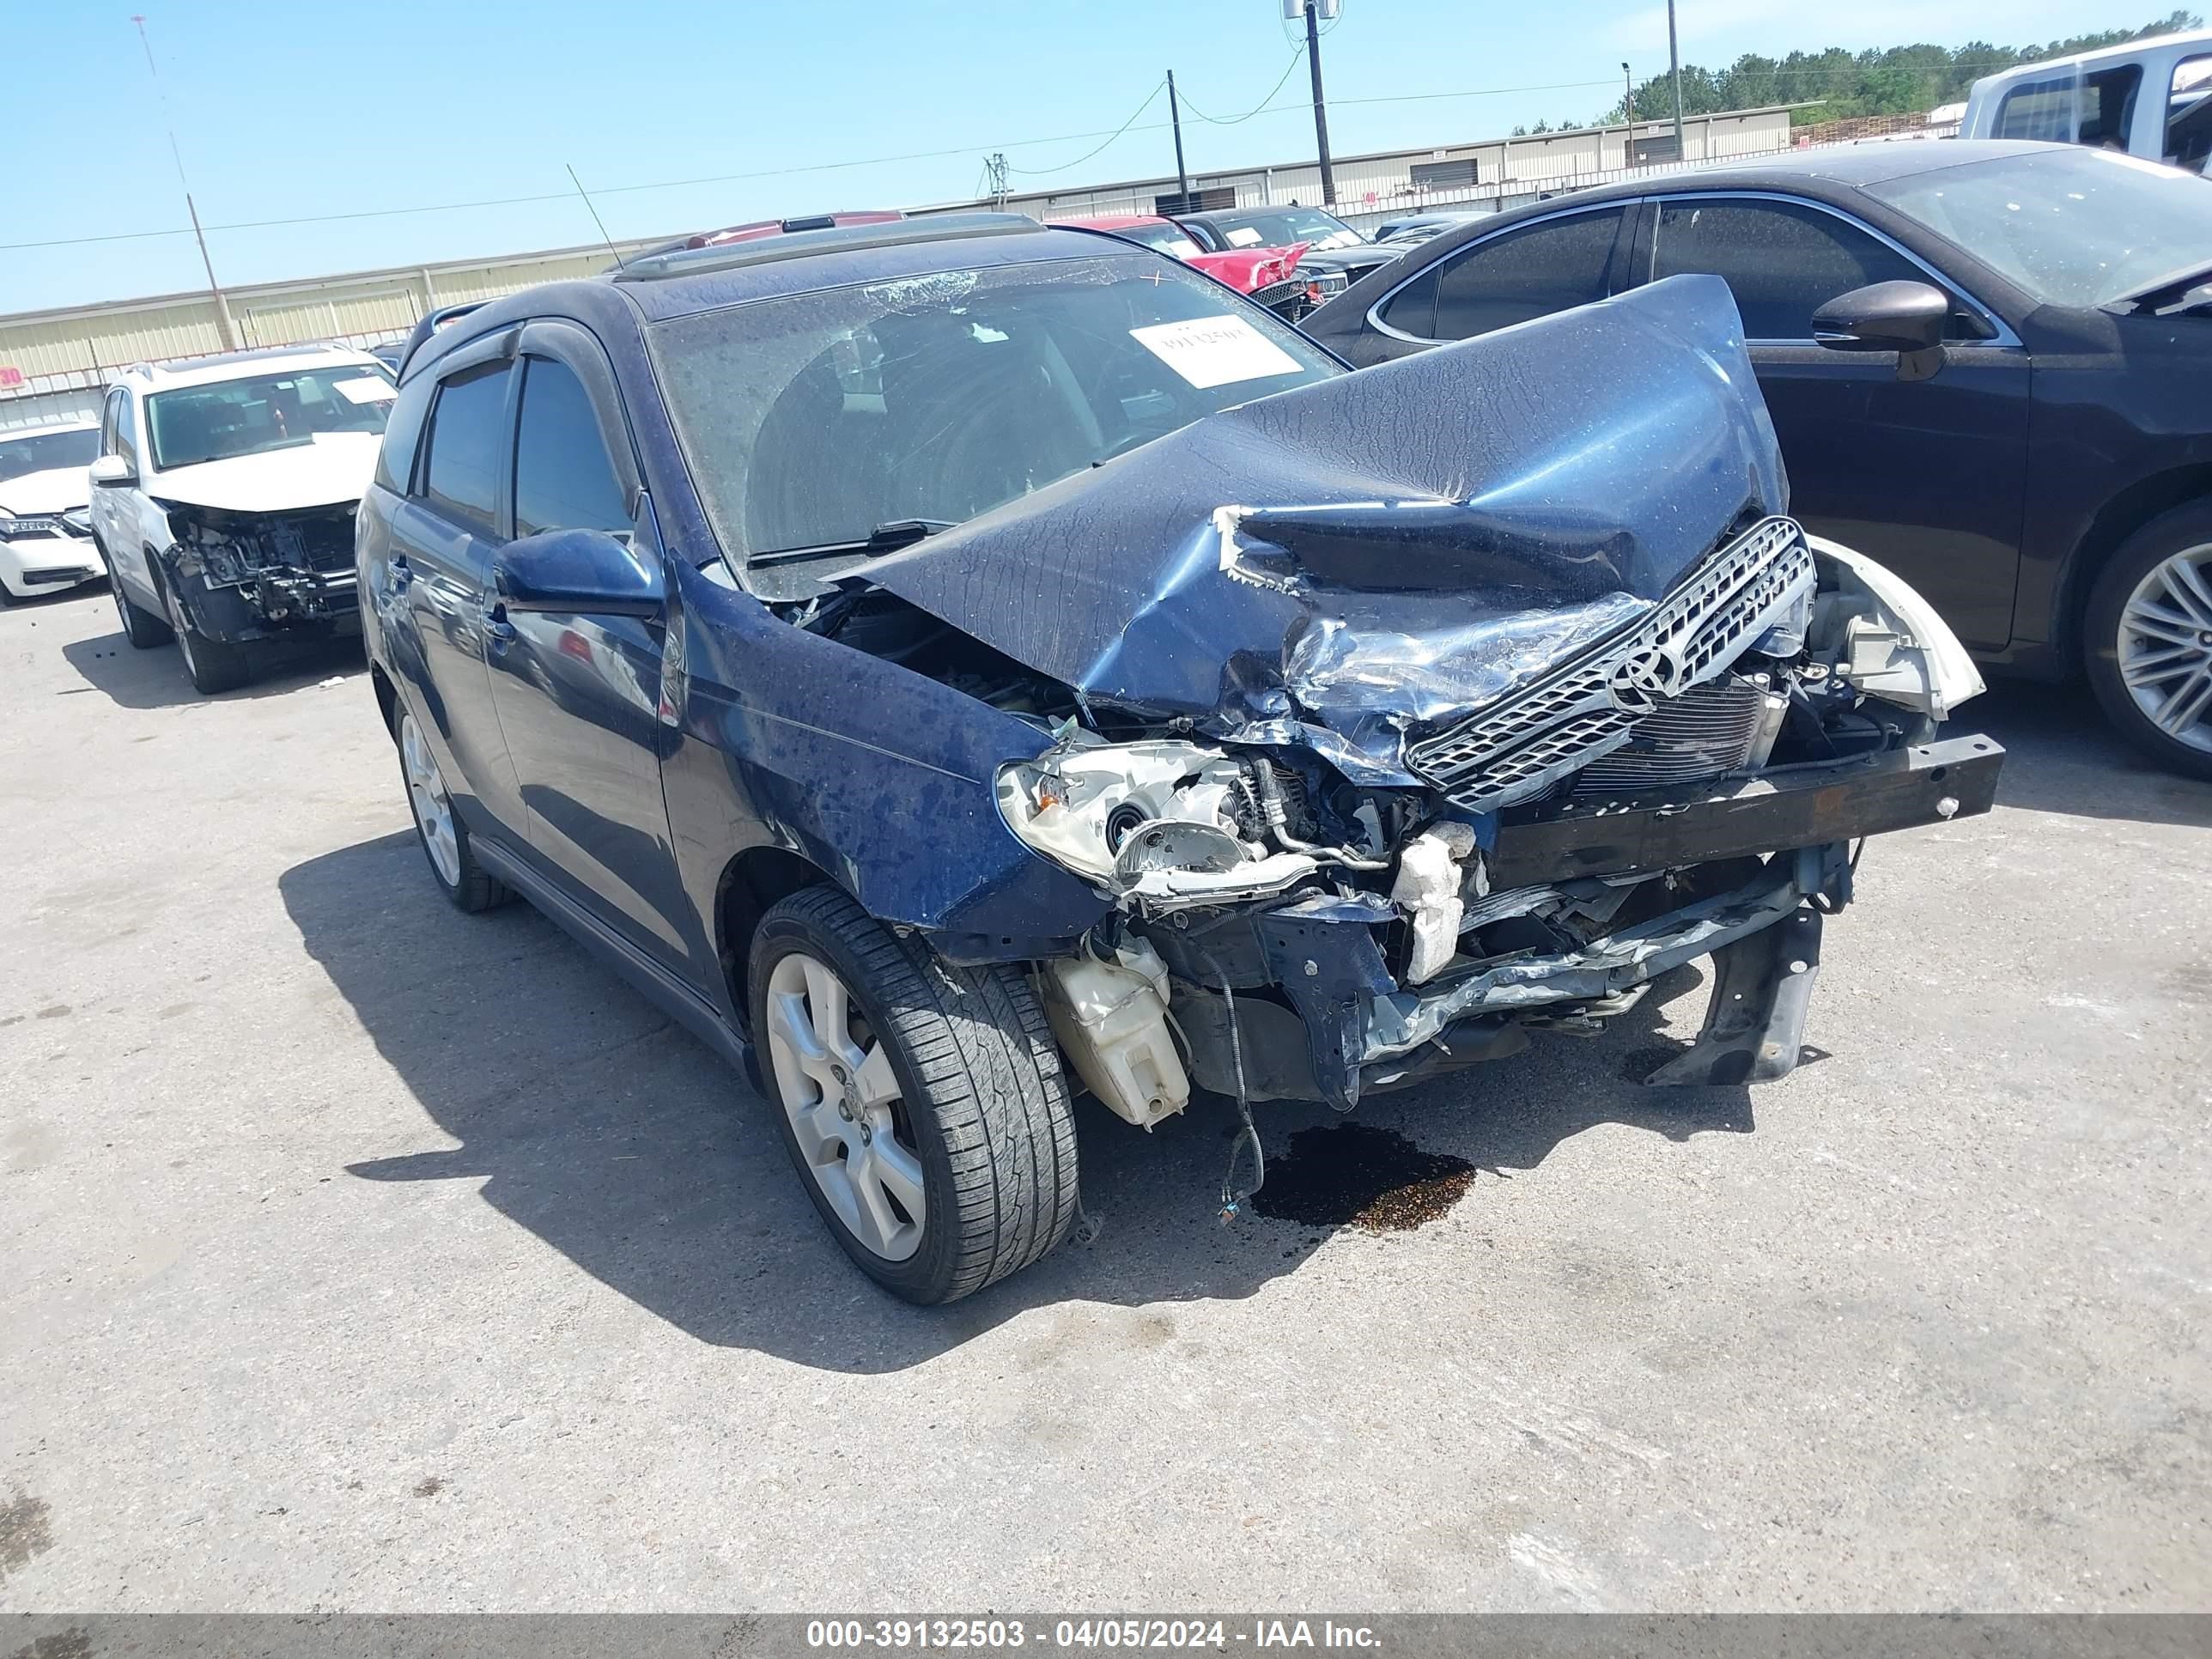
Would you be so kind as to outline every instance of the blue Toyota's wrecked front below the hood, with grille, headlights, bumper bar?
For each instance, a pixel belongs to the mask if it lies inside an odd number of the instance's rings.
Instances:
[[[1354,785],[1303,745],[1071,728],[1004,768],[1000,807],[1115,896],[1044,975],[1064,1046],[1130,1121],[1192,1079],[1349,1110],[1528,1031],[1595,1033],[1699,956],[1719,958],[1705,1031],[1652,1082],[1761,1082],[1798,1062],[1851,843],[1989,810],[1997,745],[1933,741],[1975,690],[1896,577],[1767,518],[1630,626],[1409,743],[1416,787]],[[1186,1075],[1152,1064],[1130,1093],[1086,1064],[1079,1009],[1113,975],[1119,1042]],[[1148,991],[1179,1046],[1130,1035]]]

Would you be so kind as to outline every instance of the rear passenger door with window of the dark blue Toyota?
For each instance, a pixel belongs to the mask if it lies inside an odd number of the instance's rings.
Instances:
[[[502,456],[513,425],[515,330],[440,365],[407,498],[392,511],[392,608],[414,646],[414,686],[471,830],[529,838],[515,770],[484,670],[491,557],[507,540]]]

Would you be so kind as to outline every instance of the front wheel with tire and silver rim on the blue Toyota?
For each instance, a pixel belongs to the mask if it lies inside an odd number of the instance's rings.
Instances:
[[[1020,971],[953,967],[810,887],[761,918],[752,1037],[807,1197],[891,1294],[958,1301],[1068,1230],[1075,1117]]]

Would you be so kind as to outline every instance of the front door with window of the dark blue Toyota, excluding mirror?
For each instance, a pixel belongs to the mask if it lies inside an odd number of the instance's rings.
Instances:
[[[571,323],[531,323],[509,456],[513,533],[633,540],[637,460],[613,372]],[[661,801],[661,619],[493,606],[487,661],[538,860],[659,964],[697,980]]]

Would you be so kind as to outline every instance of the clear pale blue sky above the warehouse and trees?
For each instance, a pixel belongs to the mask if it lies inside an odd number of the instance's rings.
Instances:
[[[617,237],[783,212],[973,195],[982,155],[1075,161],[1175,69],[1208,115],[1259,104],[1292,58],[1279,0],[0,0],[9,190],[0,241],[186,223],[131,11],[201,221],[484,197],[553,201],[212,230],[226,283],[462,259],[593,237],[573,164]],[[2051,40],[2137,27],[2172,0],[1679,0],[1686,62],[1911,40]],[[1995,18],[2002,15],[2002,22]],[[1340,153],[1449,144],[1588,117],[1619,64],[1666,64],[1663,0],[1345,0],[1323,42]],[[1588,82],[1582,86],[1559,86]],[[1504,95],[1478,88],[1559,86]],[[1186,126],[1192,170],[1312,157],[1303,66],[1285,108]],[[1425,102],[1413,93],[1455,93]],[[1057,184],[1172,168],[1155,104]],[[947,150],[918,159],[916,153]],[[867,161],[790,173],[825,161]],[[721,175],[719,184],[657,186]],[[1015,186],[1037,184],[1015,175]],[[0,312],[204,283],[190,237],[0,250]]]

